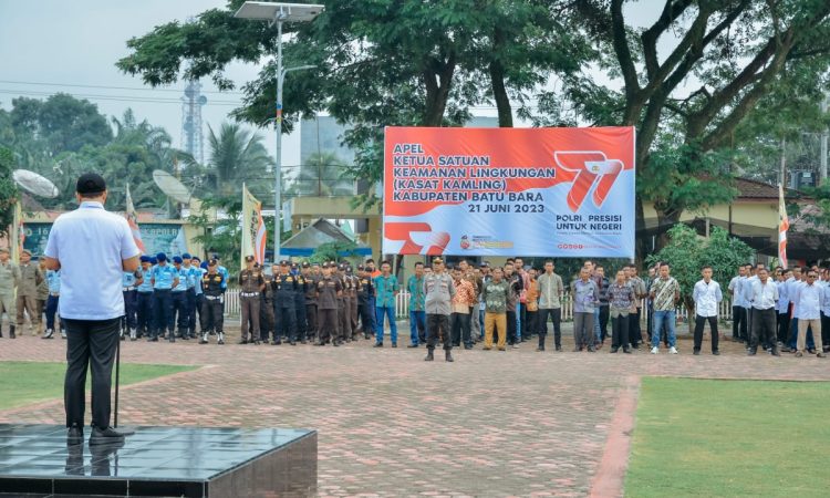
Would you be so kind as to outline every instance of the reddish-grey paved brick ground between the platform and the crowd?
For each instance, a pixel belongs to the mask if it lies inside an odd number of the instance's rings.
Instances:
[[[677,356],[536,353],[526,343],[456,350],[453,364],[371,344],[126,342],[125,363],[204,367],[123,390],[122,423],[315,428],[321,496],[585,496],[632,375],[830,380],[830,361],[747,357],[732,343],[719,357],[693,356],[688,341]],[[64,354],[61,340],[0,340],[0,360]],[[0,412],[0,422],[62,417],[59,400]]]

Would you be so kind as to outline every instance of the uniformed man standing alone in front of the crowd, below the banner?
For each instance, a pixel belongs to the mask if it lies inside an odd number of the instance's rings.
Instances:
[[[433,259],[433,272],[424,277],[424,309],[426,311],[426,347],[424,361],[434,360],[433,351],[438,338],[444,338],[444,354],[448,362],[453,361],[453,339],[449,336],[449,314],[453,310],[455,297],[453,277],[444,271],[444,260]]]

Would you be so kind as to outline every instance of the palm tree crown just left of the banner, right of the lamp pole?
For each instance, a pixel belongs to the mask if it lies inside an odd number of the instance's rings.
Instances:
[[[334,153],[315,153],[300,166],[293,178],[299,195],[321,197],[353,196],[354,178],[347,175],[346,165]]]

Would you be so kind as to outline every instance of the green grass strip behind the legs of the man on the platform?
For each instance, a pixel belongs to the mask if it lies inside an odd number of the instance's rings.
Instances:
[[[196,366],[121,364],[121,385],[195,370]],[[0,362],[0,409],[63,397],[65,363]],[[86,374],[86,390],[91,373]],[[113,377],[115,367],[113,367]]]

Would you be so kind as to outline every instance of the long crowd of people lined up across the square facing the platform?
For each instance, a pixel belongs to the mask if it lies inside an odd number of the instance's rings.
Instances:
[[[205,262],[188,253],[169,259],[165,253],[143,256],[138,270],[124,273],[122,339],[208,343],[216,336],[224,344],[229,279],[218,256]],[[473,349],[483,342],[484,350],[506,351],[533,338],[537,351],[542,352],[549,325],[551,345],[561,351],[562,303],[568,292],[575,352],[595,352],[608,342],[611,353],[631,353],[645,343],[657,354],[662,341],[671,354],[678,353],[676,310],[684,289],[671,276],[668,262],[650,268],[647,277],[641,278],[634,264],[606,277],[602,266],[588,260],[566,287],[552,260],[538,269],[526,267],[520,258],[500,267],[461,260],[447,268],[442,258],[435,258],[430,264],[416,263],[402,286],[387,261],[378,269],[369,259],[354,271],[347,262],[282,260],[269,272],[248,257],[246,269],[235,280],[241,309],[240,344],[340,346],[374,338],[374,346],[383,347],[387,325],[390,344],[397,347],[396,297],[405,289],[407,346],[426,345],[427,361],[434,360],[439,345],[445,359],[453,361],[453,347]],[[21,332],[27,315],[33,333],[52,339],[58,331],[65,338],[55,318],[60,284],[60,270],[32,262],[29,251],[22,251],[19,264],[13,264],[8,250],[0,249],[0,318],[2,312],[9,315],[10,338]],[[712,268],[701,269],[701,280],[692,289],[694,354],[701,354],[707,323],[712,354],[719,354],[719,303],[726,292],[733,307],[732,340],[743,342],[747,354],[757,354],[761,346],[772,355],[792,352],[823,357],[830,346],[830,269],[770,271],[764,264],[744,264],[725,290],[713,280]]]

